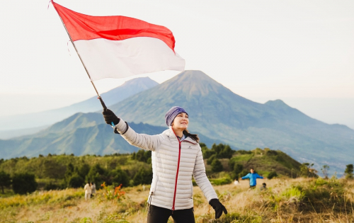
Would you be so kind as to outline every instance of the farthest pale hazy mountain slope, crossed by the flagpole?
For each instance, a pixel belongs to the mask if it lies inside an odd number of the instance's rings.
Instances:
[[[135,93],[145,91],[156,85],[159,84],[156,81],[149,79],[149,77],[141,77],[126,81],[121,86],[113,88],[106,93],[102,93],[101,97],[103,98],[103,101],[105,101],[105,105],[109,106],[118,103],[125,98],[134,95]],[[33,128],[33,130],[35,130],[35,127],[52,125],[53,123],[59,122],[70,115],[74,115],[75,113],[89,113],[101,109],[101,103],[98,101],[97,96],[95,96],[87,99],[86,101],[81,101],[64,108],[47,110],[40,113],[1,117],[0,130],[1,132],[4,132],[4,130],[18,130],[24,128]],[[41,129],[43,129],[43,127]],[[8,131],[8,134],[10,133],[11,131]],[[30,133],[34,133],[34,131],[31,131]],[[7,138],[11,137],[11,135],[8,134],[5,135],[4,133],[2,135]],[[18,136],[18,132],[12,136]]]

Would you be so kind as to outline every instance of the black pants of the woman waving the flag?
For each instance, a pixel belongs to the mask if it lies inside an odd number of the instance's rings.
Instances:
[[[175,223],[195,223],[193,207],[183,210],[169,210],[164,207],[151,205],[150,212],[147,214],[147,223],[167,223],[172,216]]]

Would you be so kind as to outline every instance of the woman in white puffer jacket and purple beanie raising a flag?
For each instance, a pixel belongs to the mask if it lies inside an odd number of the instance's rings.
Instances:
[[[103,110],[108,125],[135,147],[152,151],[152,185],[148,199],[148,223],[166,223],[170,216],[176,223],[194,223],[193,184],[195,182],[215,210],[215,218],[227,210],[217,199],[205,174],[202,149],[198,135],[190,134],[188,113],[181,107],[172,107],[165,115],[169,126],[159,135],[138,134],[111,110]]]

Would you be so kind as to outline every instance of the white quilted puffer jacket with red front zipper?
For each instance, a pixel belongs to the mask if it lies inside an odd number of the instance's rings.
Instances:
[[[217,198],[205,174],[202,149],[194,139],[179,142],[171,127],[159,135],[138,134],[122,119],[115,127],[133,146],[152,151],[151,205],[171,210],[192,208],[192,176],[208,202]]]

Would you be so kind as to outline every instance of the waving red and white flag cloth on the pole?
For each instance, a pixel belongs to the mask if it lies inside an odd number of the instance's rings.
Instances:
[[[171,30],[125,16],[88,16],[52,1],[91,81],[162,70],[183,71]]]

